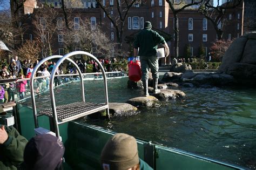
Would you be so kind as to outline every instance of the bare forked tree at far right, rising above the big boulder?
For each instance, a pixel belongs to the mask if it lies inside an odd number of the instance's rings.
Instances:
[[[220,40],[223,38],[223,28],[226,23],[226,11],[228,9],[236,8],[240,5],[242,0],[228,1],[225,4],[221,4],[220,0],[217,0],[217,5],[212,5],[210,1],[211,0],[205,0],[205,3],[201,4],[198,11],[211,21],[218,39]]]

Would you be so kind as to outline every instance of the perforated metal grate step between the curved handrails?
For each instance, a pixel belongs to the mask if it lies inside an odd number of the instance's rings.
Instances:
[[[83,117],[88,114],[105,110],[106,108],[107,108],[107,105],[105,104],[96,104],[96,103],[78,101],[76,103],[57,106],[56,111],[57,111],[58,120],[61,123],[64,123],[66,121],[75,120],[79,117]],[[53,117],[52,108],[46,108],[44,110],[41,110],[39,111],[39,114],[44,114],[44,115],[47,115],[48,117]]]

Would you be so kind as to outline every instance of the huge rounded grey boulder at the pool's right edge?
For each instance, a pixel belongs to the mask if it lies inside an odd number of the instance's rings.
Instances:
[[[256,87],[256,32],[237,38],[225,52],[218,73],[230,74],[239,84]]]

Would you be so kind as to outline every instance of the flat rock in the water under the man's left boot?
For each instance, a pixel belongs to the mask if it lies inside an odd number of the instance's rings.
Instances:
[[[158,99],[153,96],[147,96],[147,97],[136,97],[129,99],[126,101],[126,103],[129,103],[135,107],[145,106],[145,107],[152,107],[154,104],[156,104]]]

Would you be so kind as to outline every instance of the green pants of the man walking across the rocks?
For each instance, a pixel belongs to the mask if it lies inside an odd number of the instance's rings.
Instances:
[[[157,56],[140,56],[139,58],[142,64],[142,80],[149,80],[149,69],[153,78],[159,78]]]

